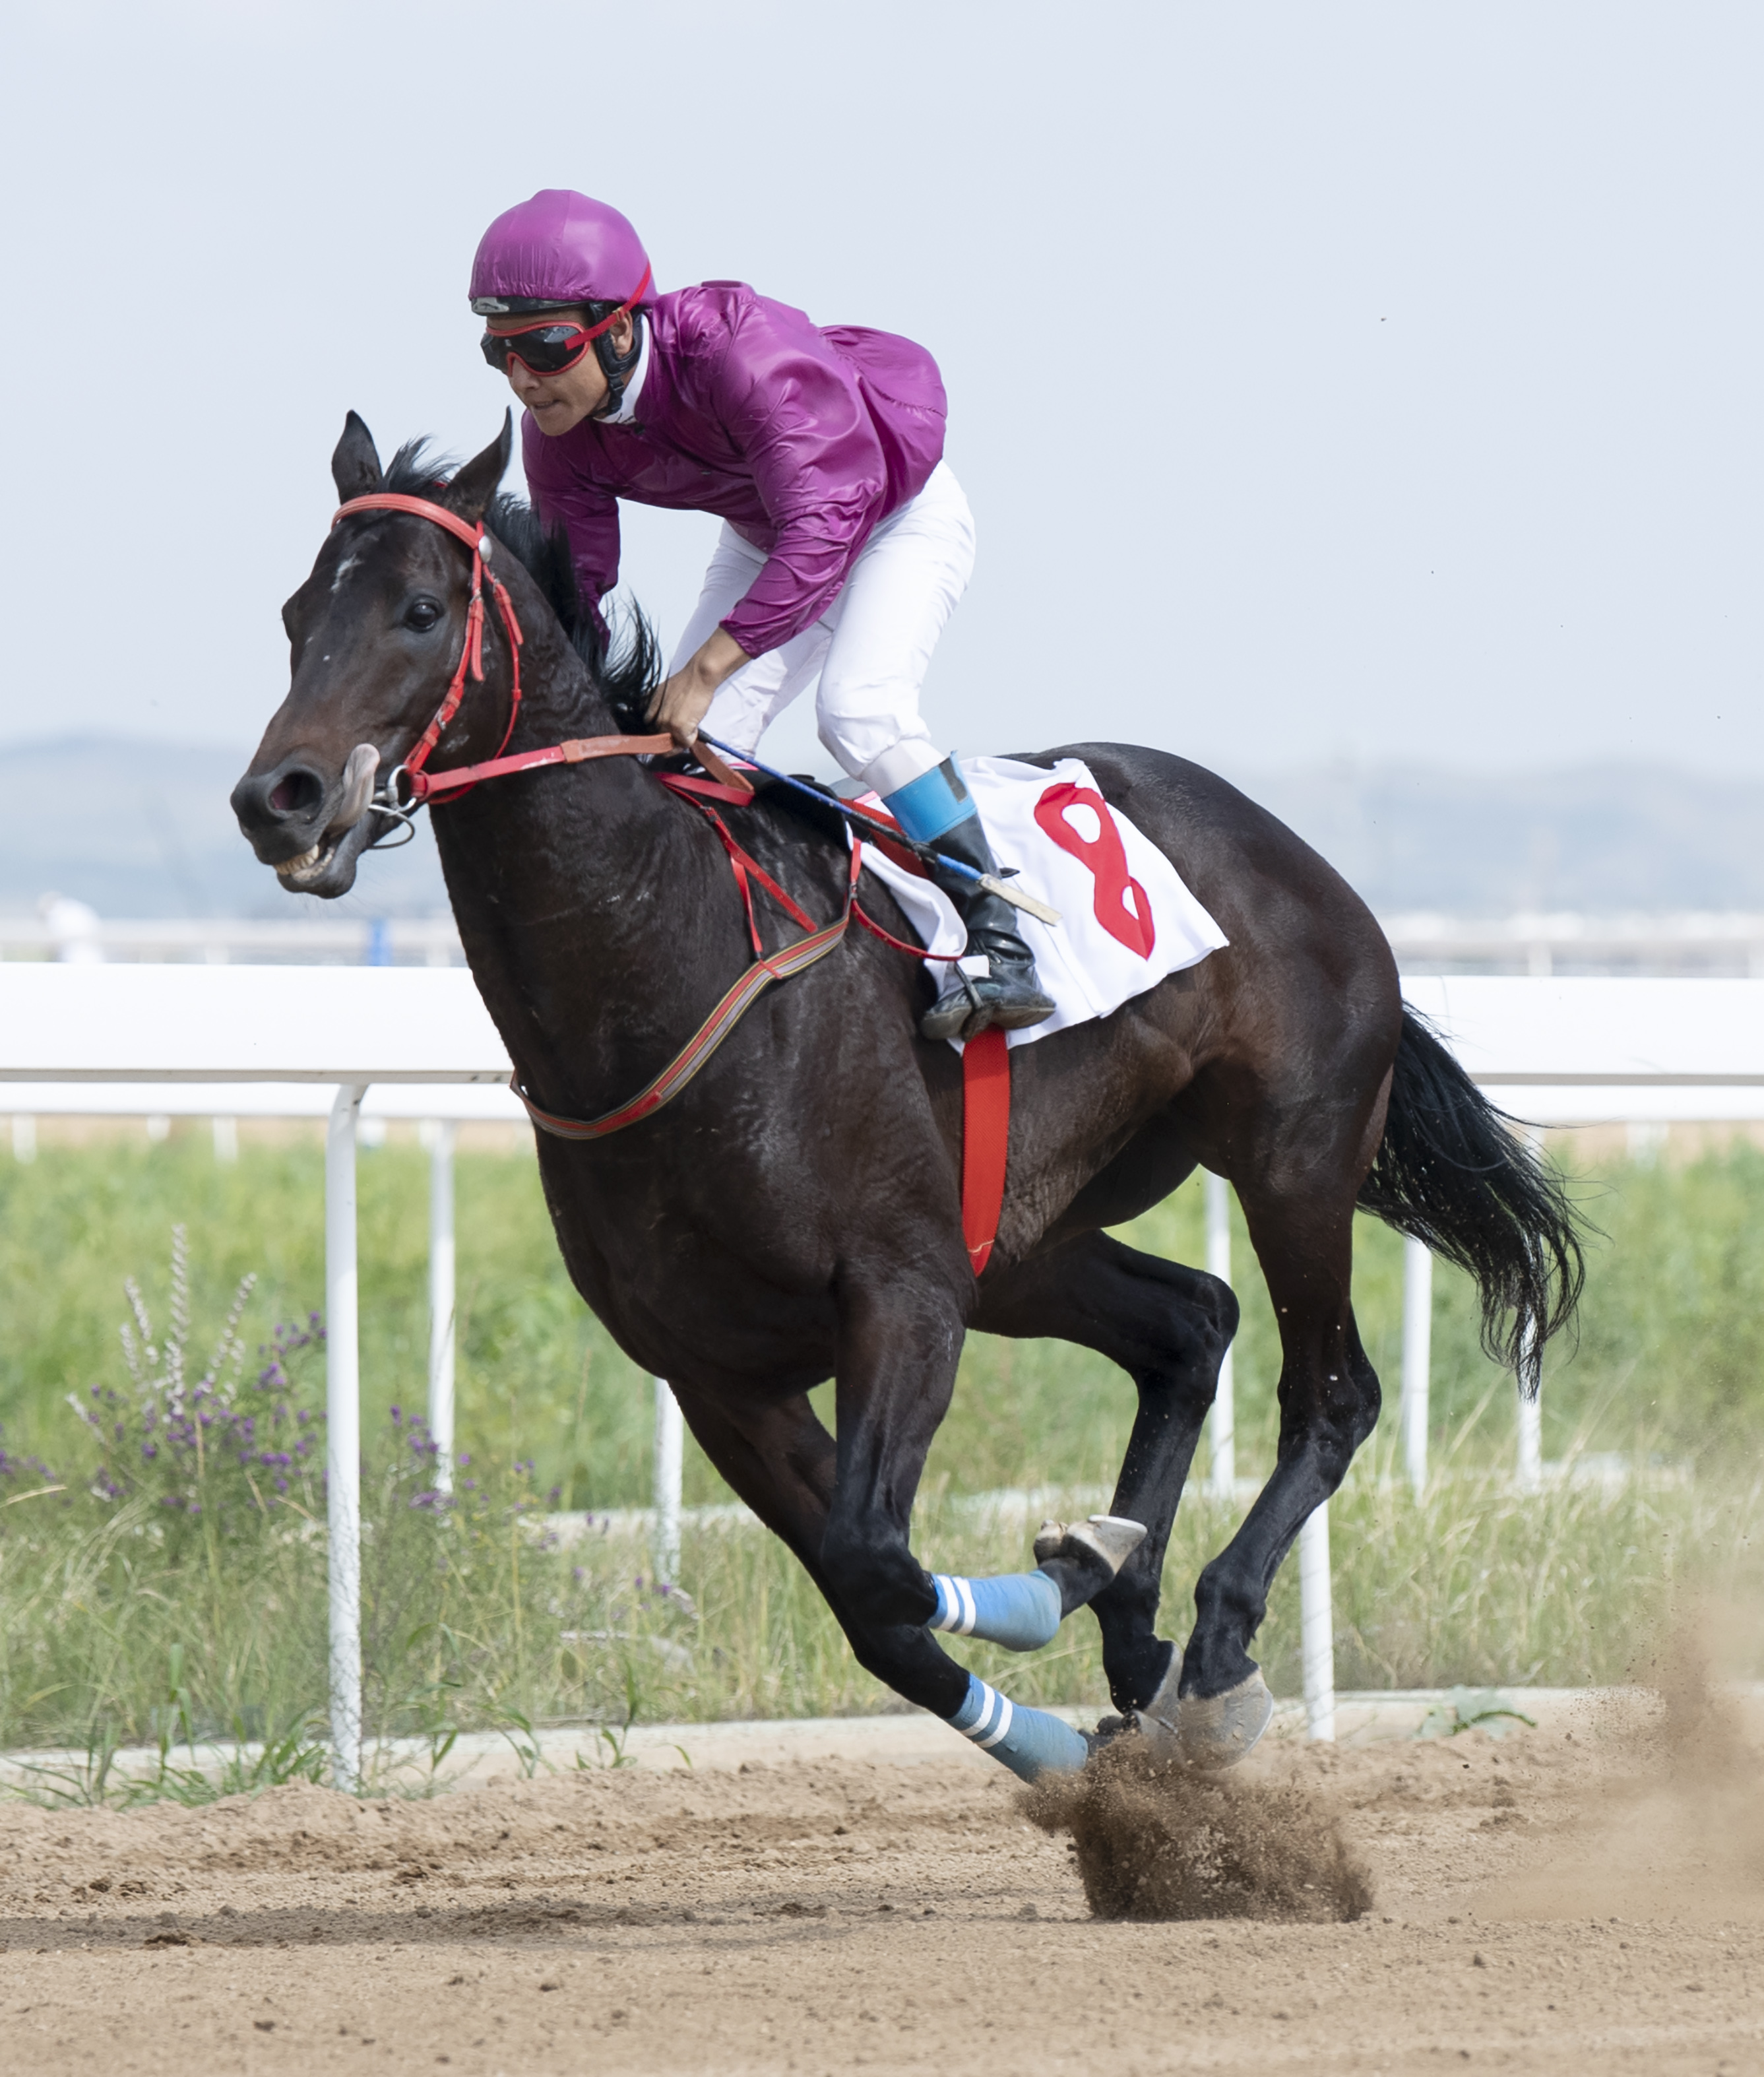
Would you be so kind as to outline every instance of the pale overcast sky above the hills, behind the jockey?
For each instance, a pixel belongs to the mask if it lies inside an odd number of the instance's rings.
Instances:
[[[966,750],[1764,773],[1735,4],[349,0],[8,15],[0,739],[249,748],[355,407],[497,430],[484,224],[615,201],[933,349]],[[673,638],[715,521],[627,507]]]

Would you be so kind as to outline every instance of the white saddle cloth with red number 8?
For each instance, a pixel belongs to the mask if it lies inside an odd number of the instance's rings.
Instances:
[[[1024,893],[1060,910],[1058,926],[1016,912],[1041,987],[1053,997],[1053,1016],[1008,1032],[1010,1045],[1033,1045],[1068,1024],[1105,1018],[1166,974],[1199,966],[1230,943],[1164,852],[1110,808],[1080,758],[1062,758],[1051,768],[1016,758],[962,758],[960,768],[993,858],[1016,866]],[[875,812],[881,802],[868,795],[858,806]],[[929,953],[962,951],[962,918],[929,879],[875,843],[864,847],[864,866],[900,901]],[[931,972],[941,987],[945,968],[935,964]],[[960,1051],[960,1041],[952,1043]]]

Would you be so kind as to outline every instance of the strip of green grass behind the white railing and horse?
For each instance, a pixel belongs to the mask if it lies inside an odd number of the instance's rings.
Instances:
[[[1619,1163],[1589,1178],[1585,1194],[1608,1240],[1594,1250],[1579,1354],[1556,1356],[1548,1373],[1546,1456],[1625,1450],[1673,1475],[1610,1493],[1515,1495],[1504,1479],[1511,1383],[1477,1350],[1465,1279],[1442,1271],[1440,1481],[1427,1510],[1390,1477],[1394,1423],[1332,1510],[1342,1687],[1612,1680],[1646,1653],[1687,1585],[1756,1589],[1764,1157],[1739,1149],[1683,1169]],[[310,1473],[291,1471],[289,1491],[276,1493],[262,1466],[251,1485],[226,1462],[204,1464],[202,1477],[220,1483],[191,1512],[166,1506],[177,1498],[170,1471],[158,1487],[123,1475],[137,1437],[112,1439],[123,1491],[93,1498],[102,1435],[66,1406],[69,1394],[91,1404],[93,1383],[125,1385],[121,1284],[139,1275],[150,1306],[164,1311],[175,1221],[189,1228],[197,1356],[239,1277],[260,1277],[241,1325],[249,1377],[249,1350],[320,1302],[318,1147],[247,1147],[237,1167],[220,1167],[206,1136],[189,1134],[0,1163],[4,1446],[12,1460],[39,1454],[71,1487],[23,1498],[50,1481],[25,1464],[0,1471],[0,1747],[102,1755],[141,1741],[170,1751],[189,1734],[268,1738],[299,1772],[324,1695],[322,1495]],[[1130,1238],[1195,1261],[1199,1188],[1184,1186]],[[422,1153],[364,1153],[364,1585],[376,1730],[445,1741],[451,1728],[619,1722],[632,1709],[657,1720],[889,1705],[763,1535],[688,1531],[681,1572],[696,1608],[654,1593],[632,1543],[546,1547],[534,1516],[551,1504],[648,1498],[650,1385],[571,1294],[524,1155],[459,1157],[459,1444],[474,1458],[474,1489],[447,1518],[413,1506],[428,1473],[403,1417],[424,1398],[424,1252]],[[1255,1475],[1274,1454],[1278,1350],[1240,1230],[1236,1263],[1238,1471]],[[1363,1221],[1357,1304],[1392,1404],[1400,1273],[1400,1242]],[[278,1392],[289,1423],[299,1406],[322,1406],[318,1354],[291,1356]],[[1107,1485],[1130,1402],[1126,1379],[1085,1352],[974,1338],[927,1471],[920,1556],[939,1570],[1022,1564],[1024,1533],[977,1531],[960,1495]],[[723,1498],[696,1452],[686,1498]],[[1184,1504],[1166,1579],[1178,1635],[1195,1572],[1228,1533],[1215,1504]],[[1288,1693],[1294,1574],[1278,1581],[1257,1647]],[[1087,1618],[1031,1660],[989,1647],[970,1655],[1022,1701],[1103,1699]]]

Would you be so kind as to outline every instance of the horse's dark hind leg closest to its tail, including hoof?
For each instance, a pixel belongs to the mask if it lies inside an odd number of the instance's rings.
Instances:
[[[1249,1655],[1267,1589],[1311,1512],[1346,1477],[1380,1404],[1348,1298],[1353,1203],[1319,1211],[1315,1201],[1276,1198],[1255,1186],[1240,1196],[1280,1323],[1280,1448],[1274,1477],[1195,1587],[1180,1741],[1193,1759],[1218,1765],[1249,1751],[1272,1716]]]

